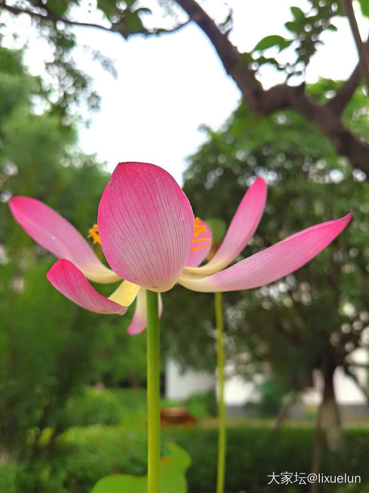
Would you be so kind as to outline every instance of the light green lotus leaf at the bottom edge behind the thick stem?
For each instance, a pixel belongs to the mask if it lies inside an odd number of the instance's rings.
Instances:
[[[169,456],[160,462],[160,493],[187,493],[185,472],[191,460],[189,454],[178,445],[170,443]],[[115,475],[100,479],[91,493],[146,493],[147,477]]]

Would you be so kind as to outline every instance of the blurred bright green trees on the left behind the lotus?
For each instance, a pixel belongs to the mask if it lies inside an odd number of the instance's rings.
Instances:
[[[54,106],[38,114],[33,95],[40,81],[21,57],[0,49],[0,462],[37,456],[46,428],[53,431],[43,453],[50,454],[73,425],[68,401],[84,386],[101,377],[115,385],[145,382],[145,338],[126,333],[132,309],[103,317],[61,296],[45,277],[54,258],[8,210],[12,195],[31,196],[87,236],[109,177],[78,150],[73,122],[64,125]]]

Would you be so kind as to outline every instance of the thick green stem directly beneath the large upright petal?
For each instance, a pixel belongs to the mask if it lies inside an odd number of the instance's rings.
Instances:
[[[147,300],[147,402],[148,493],[159,493],[160,386],[158,294],[146,291]]]

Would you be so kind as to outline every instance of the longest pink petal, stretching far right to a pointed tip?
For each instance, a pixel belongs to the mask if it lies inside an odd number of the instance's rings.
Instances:
[[[209,277],[182,275],[178,282],[193,291],[218,292],[258,288],[290,274],[318,255],[350,222],[352,213],[300,231],[270,248]]]

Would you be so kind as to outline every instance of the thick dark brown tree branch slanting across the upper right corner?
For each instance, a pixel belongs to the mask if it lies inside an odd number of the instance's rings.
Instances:
[[[346,156],[354,168],[361,169],[369,178],[369,147],[360,141],[340,121],[340,113],[355,91],[358,73],[354,71],[344,84],[344,89],[334,103],[319,105],[304,91],[304,84],[292,87],[286,84],[263,90],[249,68],[248,61],[222,34],[215,22],[202,10],[195,0],[177,0],[189,17],[207,34],[213,43],[227,73],[237,83],[244,102],[252,111],[269,115],[273,111],[291,108],[311,121],[331,140],[338,154]],[[341,98],[341,99],[340,99]]]

